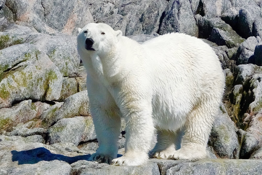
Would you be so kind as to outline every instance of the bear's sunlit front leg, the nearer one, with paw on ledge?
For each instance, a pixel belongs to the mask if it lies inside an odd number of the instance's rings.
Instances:
[[[112,165],[137,166],[148,161],[154,136],[151,103],[130,100],[121,108],[127,122],[125,153],[112,160]]]

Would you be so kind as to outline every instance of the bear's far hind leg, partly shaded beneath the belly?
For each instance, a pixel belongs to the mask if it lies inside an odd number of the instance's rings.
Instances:
[[[157,143],[150,152],[150,158],[168,158],[168,156],[178,150],[181,146],[183,132],[178,130],[157,130]]]

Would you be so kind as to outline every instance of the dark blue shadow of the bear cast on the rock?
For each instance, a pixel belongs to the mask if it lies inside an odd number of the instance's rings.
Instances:
[[[18,165],[22,164],[35,164],[40,161],[52,161],[52,160],[60,160],[72,164],[79,160],[87,160],[89,161],[90,154],[80,155],[75,157],[68,157],[61,154],[51,153],[48,149],[44,147],[39,147],[31,150],[25,151],[11,151],[12,153],[12,161],[18,161]],[[117,157],[121,157],[122,155],[117,155]]]

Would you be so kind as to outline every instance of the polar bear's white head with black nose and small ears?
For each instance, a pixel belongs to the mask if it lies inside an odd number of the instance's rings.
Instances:
[[[89,23],[82,29],[78,28],[78,32],[78,49],[85,50],[89,54],[109,53],[122,36],[121,30],[115,31],[104,23]]]

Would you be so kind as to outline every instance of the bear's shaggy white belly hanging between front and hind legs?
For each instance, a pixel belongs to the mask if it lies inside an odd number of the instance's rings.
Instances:
[[[184,105],[172,98],[157,97],[152,99],[152,117],[155,127],[163,130],[176,131],[183,127],[189,106]]]

